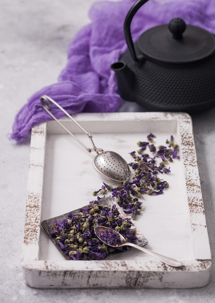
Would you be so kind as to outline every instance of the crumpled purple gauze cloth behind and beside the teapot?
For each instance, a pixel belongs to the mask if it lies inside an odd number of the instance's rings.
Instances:
[[[156,25],[182,17],[215,33],[215,3],[213,0],[149,0],[132,20],[135,42],[142,32]],[[25,140],[33,125],[51,120],[42,108],[40,97],[49,95],[69,114],[78,112],[115,112],[122,104],[117,94],[116,79],[110,65],[118,61],[127,49],[123,23],[135,0],[101,1],[92,5],[92,22],[80,30],[68,48],[68,62],[59,82],[37,91],[29,98],[13,124],[10,139]],[[52,113],[60,118],[63,112],[54,107]]]

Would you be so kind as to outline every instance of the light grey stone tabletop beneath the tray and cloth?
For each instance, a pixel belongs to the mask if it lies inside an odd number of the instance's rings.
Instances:
[[[7,138],[26,100],[57,81],[74,34],[90,22],[95,0],[0,0],[0,302],[215,302],[215,266],[198,289],[33,289],[23,283],[21,253],[30,138]],[[49,43],[46,43],[46,42]],[[60,43],[59,43],[60,42]],[[121,111],[141,111],[125,104]],[[215,108],[194,115],[193,128],[212,256],[215,254]]]

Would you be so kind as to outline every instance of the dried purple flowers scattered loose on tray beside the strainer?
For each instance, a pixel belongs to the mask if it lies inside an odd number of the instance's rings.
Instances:
[[[169,163],[173,162],[173,159],[180,159],[179,146],[174,143],[173,136],[170,137],[170,140],[166,140],[167,146],[158,147],[153,144],[154,138],[156,136],[150,133],[147,136],[147,142],[137,142],[139,146],[137,152],[130,152],[133,162],[129,163],[129,166],[134,172],[131,182],[123,182],[117,187],[103,182],[102,187],[93,193],[96,196],[111,192],[112,197],[116,198],[119,206],[125,213],[130,214],[132,219],[136,219],[136,216],[142,211],[143,202],[139,198],[143,194],[160,195],[169,187],[169,184],[160,179],[158,175],[170,173]],[[147,149],[152,156],[149,155]],[[157,162],[159,163],[157,164]]]

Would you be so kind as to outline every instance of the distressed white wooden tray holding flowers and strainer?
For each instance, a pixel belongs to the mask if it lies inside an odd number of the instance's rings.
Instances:
[[[198,288],[210,280],[211,252],[198,176],[192,121],[185,113],[82,113],[74,118],[93,135],[98,148],[129,152],[153,133],[155,144],[173,135],[181,160],[165,175],[164,194],[145,196],[145,211],[135,220],[148,239],[145,247],[181,260],[172,268],[136,250],[102,261],[65,260],[40,223],[78,209],[95,199],[102,177],[88,153],[55,122],[32,130],[23,245],[25,283],[35,288]],[[72,121],[67,128],[90,147],[88,137]],[[107,182],[105,181],[106,183]]]

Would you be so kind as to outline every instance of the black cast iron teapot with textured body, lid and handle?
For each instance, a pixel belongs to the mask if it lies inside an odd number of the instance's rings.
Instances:
[[[125,18],[128,50],[111,65],[118,93],[150,111],[198,113],[215,106],[215,36],[174,18],[133,43],[132,18],[147,1],[136,1]]]

